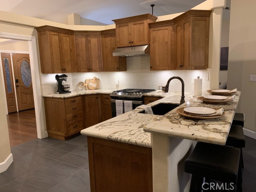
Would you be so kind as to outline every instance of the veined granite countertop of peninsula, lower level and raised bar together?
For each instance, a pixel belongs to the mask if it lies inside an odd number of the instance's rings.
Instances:
[[[178,104],[181,93],[155,91],[145,95],[164,97],[148,104],[149,106],[154,106],[158,103]],[[224,145],[239,101],[239,96],[240,92],[237,92],[234,101],[222,105],[212,105],[196,100],[192,97],[192,94],[185,94],[186,102],[179,107],[222,107],[224,108],[225,115],[218,119],[193,120],[185,118],[176,112],[177,108],[163,116],[141,114],[139,112],[142,109],[135,109],[86,128],[81,131],[81,134],[146,147],[152,147],[151,133]]]

